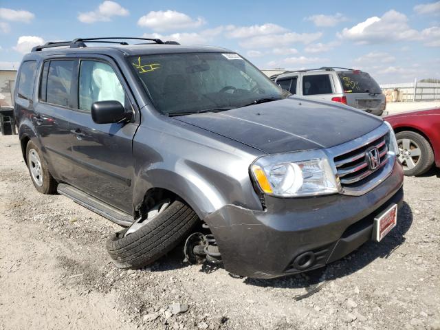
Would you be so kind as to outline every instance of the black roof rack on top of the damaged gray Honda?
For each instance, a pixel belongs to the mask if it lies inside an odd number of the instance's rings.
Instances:
[[[56,41],[56,42],[48,42],[44,45],[36,46],[32,48],[32,52],[39,52],[44,50],[45,48],[52,47],[70,47],[70,48],[79,48],[79,47],[87,47],[85,43],[118,43],[119,45],[129,45],[126,41],[120,41],[122,39],[128,40],[142,40],[142,41],[153,41],[153,43],[139,43],[137,45],[180,45],[177,41],[162,41],[160,39],[150,39],[150,38],[137,38],[137,37],[129,37],[129,36],[107,36],[103,38],[77,38],[72,41]]]

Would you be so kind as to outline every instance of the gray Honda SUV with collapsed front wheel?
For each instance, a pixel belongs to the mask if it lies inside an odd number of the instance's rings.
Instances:
[[[117,267],[185,241],[191,263],[272,278],[396,225],[403,171],[382,119],[292,96],[230,50],[124,40],[34,47],[14,93],[36,190],[122,225]]]

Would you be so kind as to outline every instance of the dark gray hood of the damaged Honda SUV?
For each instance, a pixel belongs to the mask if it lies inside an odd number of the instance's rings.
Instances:
[[[382,124],[382,119],[360,110],[298,98],[174,118],[265,153],[329,148]]]

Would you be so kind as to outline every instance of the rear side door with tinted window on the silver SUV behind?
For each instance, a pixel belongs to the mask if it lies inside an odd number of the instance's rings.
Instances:
[[[321,72],[307,72],[301,78],[303,96],[314,100],[331,101],[335,87],[329,74]]]

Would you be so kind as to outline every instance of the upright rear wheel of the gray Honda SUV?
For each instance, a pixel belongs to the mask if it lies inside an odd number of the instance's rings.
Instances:
[[[45,195],[54,194],[57,183],[50,174],[40,149],[32,141],[29,141],[26,145],[26,161],[28,162],[32,184],[34,184],[36,190]]]

